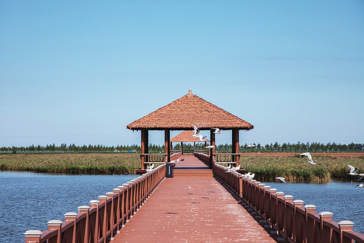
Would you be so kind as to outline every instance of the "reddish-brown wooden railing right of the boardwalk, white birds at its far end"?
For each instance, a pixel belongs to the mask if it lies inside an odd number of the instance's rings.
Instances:
[[[259,181],[214,164],[214,176],[227,185],[243,205],[278,242],[286,243],[364,243],[364,235],[353,231],[351,221],[332,221],[331,212],[316,213],[316,206],[303,206],[302,200],[284,195]]]

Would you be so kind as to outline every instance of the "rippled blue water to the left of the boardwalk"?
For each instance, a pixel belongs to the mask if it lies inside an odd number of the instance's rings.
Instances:
[[[0,171],[0,242],[23,243],[25,231],[46,230],[48,221],[64,221],[66,212],[78,212],[79,206],[136,177]]]

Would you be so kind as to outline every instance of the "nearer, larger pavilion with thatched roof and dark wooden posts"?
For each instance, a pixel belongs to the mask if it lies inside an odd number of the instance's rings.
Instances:
[[[158,110],[132,122],[126,128],[141,131],[141,169],[145,169],[148,160],[148,131],[165,131],[165,156],[170,158],[170,131],[193,130],[192,124],[199,130],[210,130],[210,142],[215,146],[215,133],[213,128],[232,130],[232,154],[239,153],[239,130],[251,130],[253,125],[226,112],[216,105],[192,94],[189,89],[187,95],[165,105]],[[212,149],[211,156],[215,153]],[[212,158],[212,157],[211,157]],[[236,155],[236,164],[239,157]]]

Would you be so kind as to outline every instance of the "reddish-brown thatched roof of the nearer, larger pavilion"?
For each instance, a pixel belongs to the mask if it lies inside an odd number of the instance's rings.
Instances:
[[[250,130],[254,126],[232,113],[193,95],[187,95],[165,105],[158,110],[132,122],[126,128],[130,130],[193,130],[192,124],[199,130],[219,128],[222,130]]]

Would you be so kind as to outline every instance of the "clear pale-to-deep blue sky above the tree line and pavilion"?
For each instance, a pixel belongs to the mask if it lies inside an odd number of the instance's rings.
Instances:
[[[140,144],[189,88],[241,144],[364,143],[364,1],[0,0],[0,146]]]

